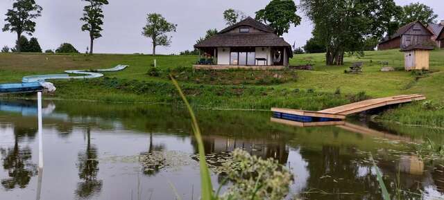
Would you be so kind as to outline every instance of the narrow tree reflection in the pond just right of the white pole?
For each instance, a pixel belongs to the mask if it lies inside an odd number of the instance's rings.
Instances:
[[[76,194],[78,197],[89,199],[101,191],[103,181],[97,180],[97,174],[99,174],[97,149],[91,144],[91,130],[88,127],[86,152],[78,154],[78,177],[82,180],[77,185]]]

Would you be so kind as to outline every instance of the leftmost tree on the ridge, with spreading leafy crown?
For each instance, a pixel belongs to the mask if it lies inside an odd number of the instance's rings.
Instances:
[[[34,0],[16,0],[12,3],[12,9],[6,12],[6,24],[3,32],[10,31],[17,33],[17,41],[23,33],[32,35],[35,31],[35,21],[33,19],[42,16],[43,8]],[[17,45],[17,52],[22,51],[22,46]]]

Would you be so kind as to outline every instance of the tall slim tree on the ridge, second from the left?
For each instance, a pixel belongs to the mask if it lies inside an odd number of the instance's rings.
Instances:
[[[89,4],[83,8],[83,17],[81,21],[85,21],[82,26],[82,31],[89,32],[89,54],[93,53],[94,39],[102,37],[101,31],[103,28],[103,5],[108,5],[108,0],[82,0],[87,1]]]

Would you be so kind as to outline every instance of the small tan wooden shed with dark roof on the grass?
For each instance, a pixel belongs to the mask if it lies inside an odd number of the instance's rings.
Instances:
[[[429,55],[434,49],[431,44],[416,44],[401,48],[404,52],[404,69],[411,70],[429,70]]]

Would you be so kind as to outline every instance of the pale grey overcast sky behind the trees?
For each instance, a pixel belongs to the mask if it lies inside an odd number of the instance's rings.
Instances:
[[[405,5],[417,0],[395,0],[398,5]],[[12,0],[0,0],[0,28],[3,28],[5,14],[12,8]],[[62,42],[69,42],[79,51],[85,52],[89,46],[88,33],[82,32],[83,6],[85,1],[80,0],[36,0],[43,7],[42,17],[36,22],[37,37],[43,50],[55,49]],[[142,27],[146,24],[146,14],[157,12],[168,21],[178,24],[177,33],[173,36],[169,47],[157,47],[157,53],[178,53],[191,49],[196,39],[205,35],[205,30],[225,28],[223,10],[234,8],[241,10],[251,17],[255,12],[266,6],[269,0],[110,0],[105,6],[105,25],[103,37],[96,39],[94,43],[95,53],[151,53],[151,40],[142,36]],[[296,1],[296,4],[299,0]],[[442,0],[422,0],[444,17]],[[290,44],[296,42],[296,46],[303,46],[311,37],[311,22],[301,12],[302,23],[296,28],[291,28],[284,38]],[[2,46],[14,46],[15,33],[0,32],[0,48]]]

